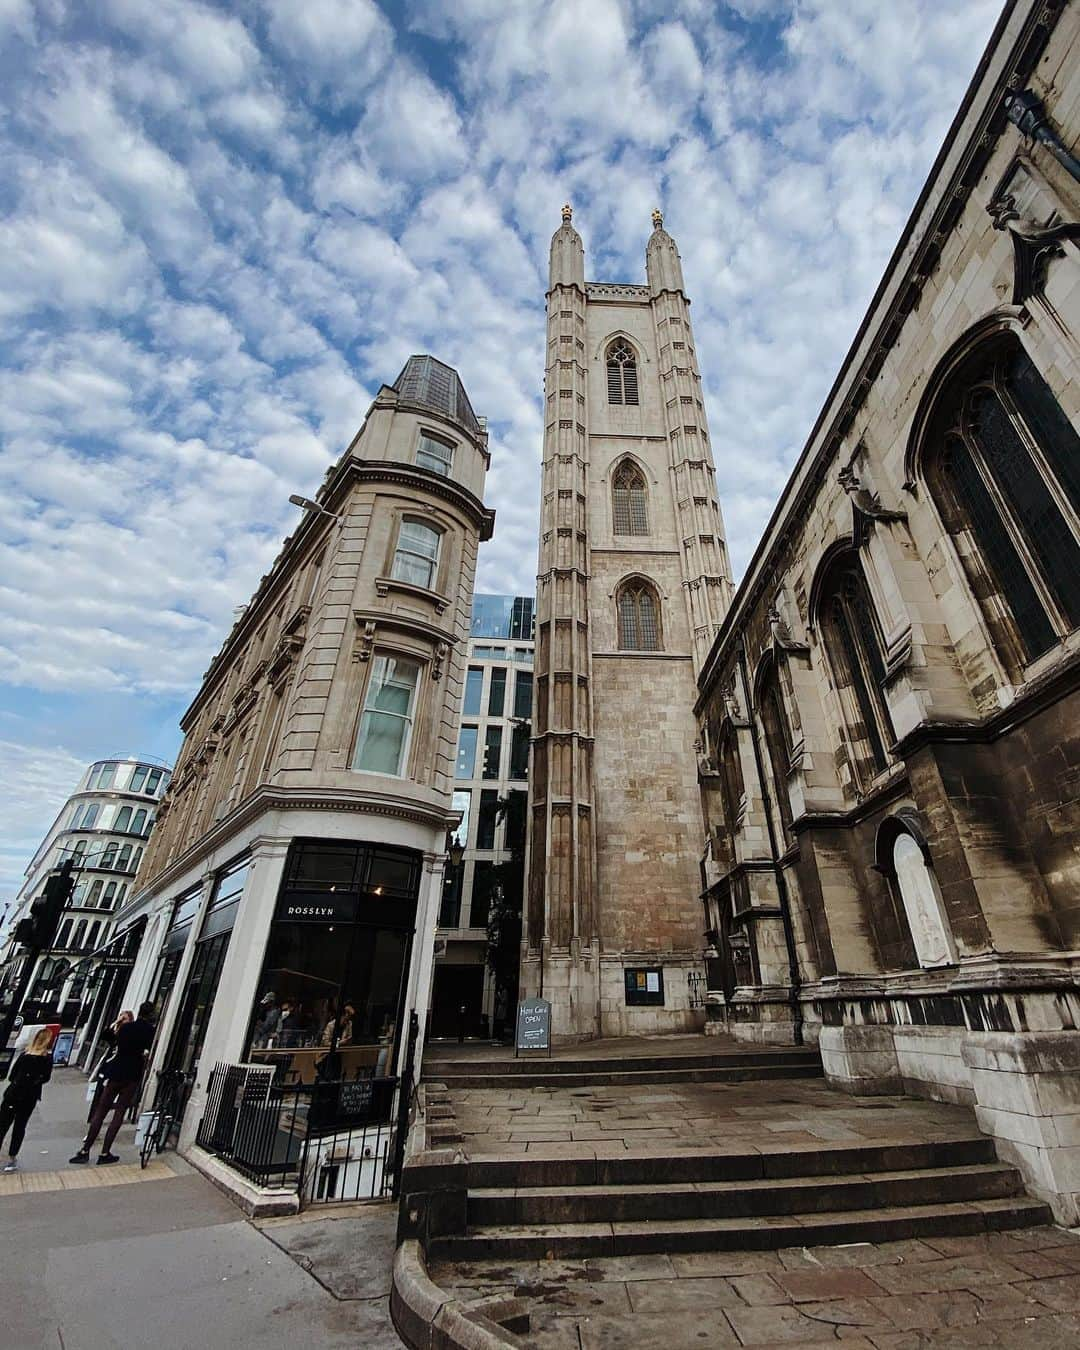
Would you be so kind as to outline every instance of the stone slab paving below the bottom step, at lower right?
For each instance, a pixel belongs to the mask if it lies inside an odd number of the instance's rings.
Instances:
[[[1029,1228],[782,1251],[444,1264],[464,1299],[525,1299],[536,1350],[1080,1346],[1080,1237]]]

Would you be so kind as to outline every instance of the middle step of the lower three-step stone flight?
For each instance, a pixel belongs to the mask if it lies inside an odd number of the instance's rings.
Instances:
[[[998,1200],[1017,1195],[1015,1168],[927,1168],[876,1176],[792,1177],[761,1181],[666,1181],[656,1185],[517,1187],[468,1192],[468,1226],[633,1223],[675,1219],[753,1219]]]

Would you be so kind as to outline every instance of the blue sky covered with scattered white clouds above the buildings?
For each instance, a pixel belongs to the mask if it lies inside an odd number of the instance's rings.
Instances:
[[[163,757],[413,351],[493,432],[531,591],[543,293],[694,302],[736,572],[999,0],[0,0],[0,909],[90,759]]]

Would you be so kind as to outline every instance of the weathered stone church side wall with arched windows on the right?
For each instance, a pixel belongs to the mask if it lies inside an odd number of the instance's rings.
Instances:
[[[973,1104],[1073,1224],[1079,43],[1006,7],[697,705],[711,1013]]]

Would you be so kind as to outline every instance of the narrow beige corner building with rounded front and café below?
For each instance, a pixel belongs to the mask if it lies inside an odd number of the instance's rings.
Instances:
[[[184,714],[119,925],[147,922],[126,999],[192,1081],[185,1149],[216,1061],[309,1083],[350,1008],[348,1079],[423,1040],[489,463],[458,374],[409,358]]]

